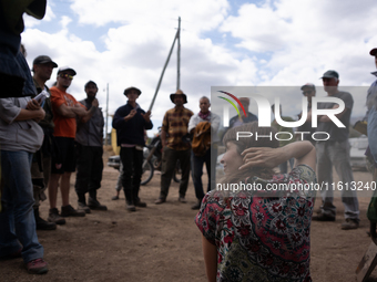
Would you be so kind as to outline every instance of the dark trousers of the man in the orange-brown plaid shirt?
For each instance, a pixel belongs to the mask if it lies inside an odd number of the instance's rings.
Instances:
[[[160,198],[166,199],[169,187],[173,178],[176,160],[181,163],[182,179],[180,182],[180,197],[185,197],[190,177],[190,156],[191,149],[175,150],[164,147],[161,167],[161,191]]]

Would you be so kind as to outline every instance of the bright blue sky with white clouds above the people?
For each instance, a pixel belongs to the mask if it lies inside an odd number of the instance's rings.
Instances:
[[[77,100],[85,97],[84,84],[92,80],[105,113],[109,85],[112,115],[126,103],[124,88],[136,86],[137,103],[146,111],[181,17],[180,86],[194,113],[200,97],[211,97],[211,86],[297,86],[296,94],[281,100],[284,114],[294,116],[299,87],[322,86],[323,73],[336,70],[339,90],[365,88],[351,93],[353,117],[358,117],[375,81],[369,51],[377,46],[376,13],[374,0],[50,0],[43,20],[24,15],[22,43],[30,66],[35,56],[49,55],[77,71],[68,90]],[[152,108],[150,136],[174,106],[176,59],[175,44]],[[48,86],[55,76],[57,69]],[[258,114],[253,103],[251,112]]]

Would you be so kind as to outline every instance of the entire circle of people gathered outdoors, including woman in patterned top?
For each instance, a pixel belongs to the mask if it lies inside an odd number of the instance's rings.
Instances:
[[[33,61],[33,77],[20,52],[20,32],[23,29],[22,13],[28,11],[43,18],[45,1],[35,6],[30,2],[10,4],[10,10],[20,11],[17,21],[10,21],[4,7],[0,20],[0,81],[3,92],[0,98],[0,154],[1,154],[1,213],[0,258],[22,257],[30,273],[48,272],[43,260],[43,247],[37,229],[53,230],[65,223],[65,217],[84,217],[91,210],[106,210],[98,200],[102,177],[103,115],[95,98],[98,86],[93,81],[84,85],[86,98],[78,102],[67,91],[77,72],[69,66],[60,67],[57,85],[49,87],[52,70],[58,67],[49,56]],[[7,8],[8,9],[8,8]],[[10,23],[13,22],[13,25]],[[14,24],[14,22],[17,24]],[[22,24],[21,24],[22,23]],[[370,51],[377,66],[377,49]],[[328,96],[340,98],[345,108],[336,117],[345,125],[338,128],[325,115],[318,116],[317,132],[327,133],[323,142],[314,139],[279,144],[276,139],[237,138],[237,132],[274,134],[279,128],[258,127],[257,117],[247,111],[246,116],[235,116],[223,137],[226,147],[221,163],[225,176],[220,184],[259,185],[258,190],[225,191],[213,189],[213,171],[216,156],[216,138],[220,117],[212,113],[210,100],[200,100],[198,114],[184,107],[187,96],[182,91],[171,94],[175,107],[163,119],[161,139],[163,145],[161,192],[155,203],[166,201],[175,163],[182,169],[180,202],[186,202],[190,167],[194,179],[200,208],[195,223],[202,232],[202,246],[208,281],[312,281],[310,220],[334,221],[333,189],[322,191],[322,206],[313,217],[315,192],[289,189],[283,192],[267,191],[268,185],[332,184],[333,166],[345,186],[353,181],[349,163],[348,127],[353,109],[350,93],[338,90],[339,75],[327,71],[322,76]],[[367,96],[369,156],[377,167],[377,87],[370,86]],[[303,94],[308,98],[308,117],[300,130],[314,133],[310,124],[310,98],[315,86],[305,84]],[[41,94],[41,95],[38,95]],[[113,119],[121,146],[123,163],[123,189],[126,209],[146,207],[139,198],[142,171],[142,147],[145,130],[151,129],[151,112],[141,109],[136,103],[141,91],[129,87],[124,91],[128,103],[121,106]],[[50,98],[48,97],[50,96]],[[38,97],[38,100],[35,100]],[[248,98],[242,98],[245,105]],[[336,108],[336,103],[320,103],[318,108]],[[304,129],[306,128],[306,129]],[[190,138],[190,134],[193,138]],[[208,142],[208,134],[213,136]],[[254,135],[255,136],[255,135]],[[306,135],[310,138],[312,135]],[[215,152],[215,154],[211,154]],[[273,168],[295,158],[289,174],[276,174]],[[207,194],[204,194],[201,177],[203,164],[208,174]],[[212,165],[208,165],[211,164]],[[282,171],[285,169],[281,166]],[[317,177],[316,177],[317,170]],[[78,209],[70,205],[71,173],[77,171],[75,191]],[[58,210],[58,187],[61,189],[62,207]],[[41,200],[49,191],[48,220],[39,212]],[[86,194],[88,199],[86,199]],[[356,192],[342,191],[345,205],[345,222],[342,229],[356,229],[359,209]]]

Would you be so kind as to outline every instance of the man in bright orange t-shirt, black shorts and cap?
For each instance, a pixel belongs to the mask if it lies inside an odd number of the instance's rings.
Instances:
[[[57,86],[52,86],[51,104],[53,123],[55,125],[53,136],[60,149],[61,159],[52,158],[51,177],[49,182],[50,213],[49,221],[64,224],[62,217],[84,217],[84,211],[78,211],[70,205],[71,173],[75,171],[74,137],[77,132],[77,117],[84,117],[94,112],[99,105],[96,98],[92,102],[92,108],[86,111],[71,94],[67,93],[71,85],[75,71],[69,66],[62,66],[58,71]],[[58,187],[62,195],[61,215],[57,209]]]

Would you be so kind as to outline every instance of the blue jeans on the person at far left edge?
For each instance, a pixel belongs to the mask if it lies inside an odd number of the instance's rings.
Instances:
[[[33,213],[31,159],[32,154],[28,152],[1,150],[4,211],[0,213],[0,257],[14,253],[22,247],[24,263],[43,258]]]

